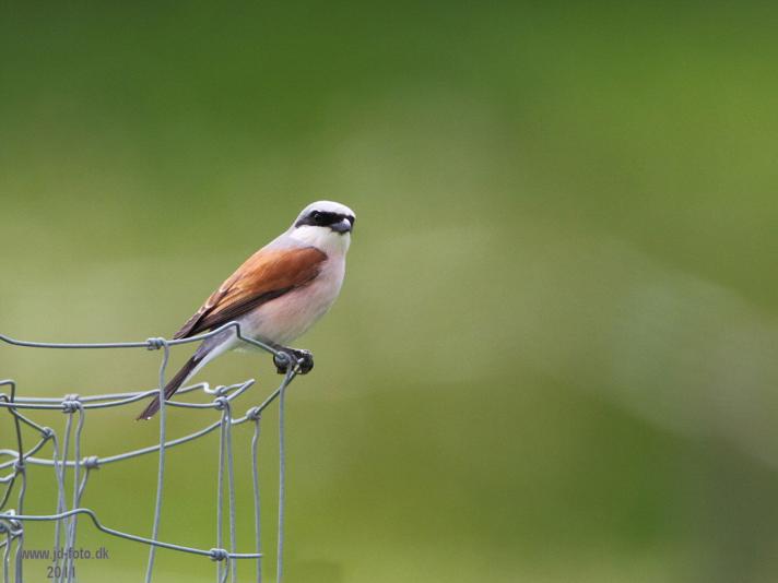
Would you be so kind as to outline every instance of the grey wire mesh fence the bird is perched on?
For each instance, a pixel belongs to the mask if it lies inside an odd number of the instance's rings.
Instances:
[[[211,398],[208,403],[188,403],[180,401],[166,401],[164,398],[165,376],[170,355],[170,347],[179,344],[201,342],[211,336],[233,329],[234,333],[246,344],[254,345],[262,350],[272,354],[279,365],[286,365],[286,372],[280,385],[259,405],[250,407],[243,416],[235,417],[233,409],[235,402],[246,390],[254,384],[254,379],[243,383],[228,386],[216,386],[211,389],[208,383],[199,383],[180,389],[176,394],[186,394],[201,390]],[[161,337],[149,338],[145,342],[118,342],[99,344],[55,344],[40,342],[24,342],[0,334],[0,341],[22,347],[31,348],[55,348],[55,349],[103,349],[103,348],[146,348],[149,350],[161,350],[162,361],[160,365],[158,386],[149,391],[110,393],[102,395],[79,396],[68,394],[63,397],[33,397],[17,394],[16,382],[14,380],[0,380],[0,407],[3,407],[11,415],[13,420],[13,431],[15,433],[15,448],[0,449],[0,459],[10,457],[0,462],[0,472],[8,472],[0,475],[0,488],[4,485],[4,492],[0,498],[0,552],[2,552],[2,575],[3,583],[22,583],[24,580],[24,536],[25,528],[37,522],[54,523],[54,549],[62,549],[56,554],[52,561],[52,574],[55,583],[73,583],[75,581],[76,559],[76,531],[78,519],[84,516],[90,519],[92,525],[98,531],[122,538],[133,540],[149,546],[149,559],[145,569],[145,583],[152,581],[156,550],[158,548],[169,549],[178,552],[187,552],[196,556],[208,557],[216,562],[216,581],[225,583],[228,579],[232,583],[237,581],[237,562],[239,560],[255,561],[256,581],[262,582],[262,546],[261,546],[261,521],[260,521],[260,488],[259,488],[259,439],[260,421],[262,412],[272,403],[278,403],[279,409],[279,510],[278,510],[278,547],[276,547],[276,583],[282,581],[283,575],[283,527],[284,527],[284,396],[286,388],[299,372],[302,361],[293,362],[292,357],[285,352],[276,350],[261,342],[243,336],[240,325],[237,322],[229,322],[207,334],[181,340],[165,340]],[[107,407],[120,407],[145,397],[160,396],[160,413],[157,415],[160,425],[158,443],[107,456],[83,455],[82,433],[86,424],[86,412],[91,409],[103,409]],[[198,431],[184,437],[167,438],[166,408],[212,408],[221,412],[217,421],[212,423]],[[62,435],[50,427],[39,425],[30,418],[30,412],[35,411],[61,411],[67,415]],[[25,412],[25,413],[22,413]],[[236,551],[236,508],[235,508],[235,474],[233,455],[233,427],[251,424],[254,433],[251,436],[251,476],[254,489],[254,549],[251,552]],[[23,427],[32,429],[36,435],[35,444],[24,449]],[[219,468],[217,468],[217,493],[216,493],[216,536],[215,546],[210,549],[194,548],[176,543],[158,539],[160,523],[162,519],[162,507],[164,500],[165,484],[165,457],[170,448],[192,442],[203,436],[219,430]],[[50,444],[50,457],[37,456],[39,452]],[[72,448],[72,456],[71,456]],[[97,514],[90,508],[82,507],[82,498],[90,475],[94,469],[107,464],[122,462],[142,455],[157,454],[157,476],[156,497],[154,503],[154,519],[150,536],[127,533],[118,528],[104,525]],[[25,493],[28,488],[27,467],[30,465],[48,466],[52,468],[56,483],[57,499],[55,512],[48,514],[28,514],[25,511]],[[69,481],[71,480],[71,481]],[[66,496],[66,485],[72,483],[72,496],[70,501]],[[15,496],[15,507],[12,504],[13,492]],[[225,492],[226,490],[226,492]],[[228,544],[225,544],[225,533],[223,527],[224,507],[226,497],[227,535]],[[70,504],[68,503],[70,502]]]

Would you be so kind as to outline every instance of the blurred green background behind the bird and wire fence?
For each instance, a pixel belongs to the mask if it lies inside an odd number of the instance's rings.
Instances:
[[[343,294],[297,342],[317,367],[288,393],[285,581],[776,581],[777,16],[3,2],[0,332],[169,336],[305,204],[342,201]],[[0,377],[25,395],[146,389],[158,358],[0,346]],[[249,377],[241,413],[279,381],[268,357],[199,378]],[[153,443],[137,409],[90,413],[84,453]],[[216,415],[173,411],[170,432]],[[162,539],[214,546],[216,453],[215,436],[170,451]],[[105,524],[150,533],[153,456],[90,479]],[[28,512],[52,511],[51,483],[30,471]],[[140,580],[145,547],[79,532],[110,551],[81,581]],[[28,548],[50,544],[28,527]],[[157,581],[213,571],[157,556]]]

